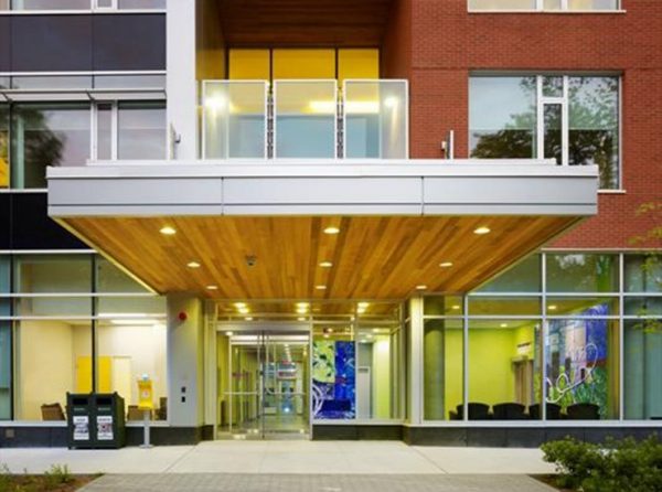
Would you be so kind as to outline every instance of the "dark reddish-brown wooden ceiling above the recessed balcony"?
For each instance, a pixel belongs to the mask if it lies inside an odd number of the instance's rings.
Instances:
[[[393,0],[218,0],[232,46],[377,46]]]

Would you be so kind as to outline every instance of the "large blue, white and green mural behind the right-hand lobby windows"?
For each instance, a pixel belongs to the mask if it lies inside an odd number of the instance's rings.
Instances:
[[[566,408],[575,403],[598,405],[606,418],[608,393],[608,315],[606,304],[594,306],[581,317],[594,319],[549,322],[547,400]]]

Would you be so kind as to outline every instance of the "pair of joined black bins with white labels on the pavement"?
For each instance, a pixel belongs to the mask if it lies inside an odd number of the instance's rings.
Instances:
[[[117,393],[66,394],[70,449],[117,449],[126,442],[125,403]]]

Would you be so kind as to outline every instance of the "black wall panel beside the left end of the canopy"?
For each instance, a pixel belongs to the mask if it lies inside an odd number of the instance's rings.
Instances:
[[[45,192],[10,196],[12,249],[89,249],[49,217]]]

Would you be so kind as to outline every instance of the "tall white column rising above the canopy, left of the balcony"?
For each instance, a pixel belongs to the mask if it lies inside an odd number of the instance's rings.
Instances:
[[[195,29],[195,0],[169,1],[167,92],[170,159],[197,158]]]

